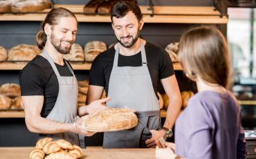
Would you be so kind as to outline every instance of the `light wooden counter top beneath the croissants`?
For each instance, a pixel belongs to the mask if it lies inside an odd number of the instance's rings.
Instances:
[[[29,158],[30,151],[34,147],[0,147],[1,159],[24,159]],[[89,147],[82,149],[84,155],[82,158],[90,159],[110,159],[110,158],[155,158],[155,149],[102,149]]]

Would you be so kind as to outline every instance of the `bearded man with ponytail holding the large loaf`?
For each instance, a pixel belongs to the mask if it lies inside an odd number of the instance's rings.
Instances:
[[[19,75],[21,98],[28,130],[39,138],[65,139],[83,147],[77,134],[93,135],[79,124],[93,110],[104,109],[97,100],[77,109],[77,79],[71,65],[63,58],[77,34],[77,19],[66,8],[54,8],[46,15],[36,43],[42,53],[23,68]],[[74,122],[76,116],[82,116]]]

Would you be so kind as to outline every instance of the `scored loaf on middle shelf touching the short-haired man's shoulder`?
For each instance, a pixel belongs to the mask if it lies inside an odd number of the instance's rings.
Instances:
[[[90,41],[84,46],[85,61],[92,62],[104,50],[107,50],[107,45],[104,42]]]

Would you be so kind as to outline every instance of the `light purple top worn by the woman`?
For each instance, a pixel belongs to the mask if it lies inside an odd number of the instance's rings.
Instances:
[[[246,158],[241,112],[231,93],[202,91],[175,125],[176,154],[185,158]]]

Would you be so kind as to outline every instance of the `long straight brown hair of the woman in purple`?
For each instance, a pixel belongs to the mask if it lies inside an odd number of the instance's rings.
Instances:
[[[198,26],[185,32],[179,44],[178,59],[185,72],[192,71],[192,75],[199,75],[206,82],[228,87],[228,46],[216,27]]]

